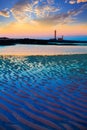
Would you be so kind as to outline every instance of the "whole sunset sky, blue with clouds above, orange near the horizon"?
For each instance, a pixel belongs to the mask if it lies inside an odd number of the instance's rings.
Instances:
[[[0,0],[0,37],[87,35],[87,0]]]

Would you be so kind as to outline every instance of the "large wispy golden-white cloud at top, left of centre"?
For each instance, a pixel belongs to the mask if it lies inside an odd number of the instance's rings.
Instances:
[[[53,3],[54,0],[22,0],[15,4],[11,12],[18,21],[32,21],[59,11],[59,8],[53,6]]]

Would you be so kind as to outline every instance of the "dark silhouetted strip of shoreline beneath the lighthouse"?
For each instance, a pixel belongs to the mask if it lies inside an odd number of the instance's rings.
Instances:
[[[0,38],[1,46],[16,45],[16,44],[27,44],[27,45],[80,45],[87,43],[87,41],[76,41],[76,40],[56,40],[56,39],[11,39],[11,38]]]

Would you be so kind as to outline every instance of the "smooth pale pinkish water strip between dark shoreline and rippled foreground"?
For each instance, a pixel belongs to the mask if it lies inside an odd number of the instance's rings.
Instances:
[[[0,48],[0,55],[65,55],[87,54],[87,46],[15,45]]]

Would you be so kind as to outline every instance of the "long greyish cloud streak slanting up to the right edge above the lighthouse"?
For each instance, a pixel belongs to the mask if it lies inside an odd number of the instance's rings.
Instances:
[[[71,9],[65,13],[57,13],[53,15],[49,15],[48,17],[42,17],[36,19],[37,22],[48,24],[48,25],[57,25],[57,24],[69,24],[69,23],[76,23],[77,15],[83,12],[83,9],[86,9],[87,5],[83,5],[80,8]]]

